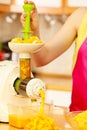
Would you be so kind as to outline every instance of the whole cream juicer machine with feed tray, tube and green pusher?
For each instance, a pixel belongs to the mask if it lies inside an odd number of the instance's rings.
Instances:
[[[32,10],[32,6],[24,5],[26,13]],[[27,7],[27,9],[26,9]],[[27,23],[28,21],[28,23]],[[29,17],[26,20],[29,24]],[[24,39],[29,38],[29,26],[24,30]],[[19,54],[19,61],[1,61],[0,62],[0,122],[8,122],[8,104],[27,106],[32,98],[40,98],[39,90],[45,89],[42,80],[34,78],[31,72],[30,53],[35,52],[43,46],[30,43],[8,43],[9,48]],[[27,65],[27,66],[26,66]],[[27,71],[26,71],[27,70]]]

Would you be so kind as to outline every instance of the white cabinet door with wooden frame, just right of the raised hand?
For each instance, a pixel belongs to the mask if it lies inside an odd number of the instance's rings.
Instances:
[[[41,14],[63,14],[63,0],[35,0],[34,2],[38,7],[38,12]]]

